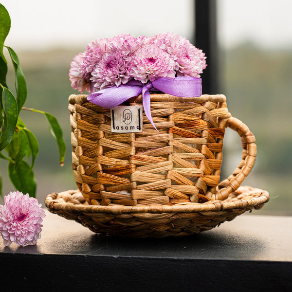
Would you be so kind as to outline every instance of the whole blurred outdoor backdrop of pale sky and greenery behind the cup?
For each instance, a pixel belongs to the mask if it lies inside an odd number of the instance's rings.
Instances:
[[[11,17],[5,44],[18,54],[27,81],[25,106],[54,114],[67,146],[65,164],[60,167],[57,146],[45,118],[38,113],[21,113],[39,142],[34,171],[37,199],[44,204],[46,195],[76,188],[67,109],[69,95],[77,93],[71,89],[68,77],[73,57],[92,40],[117,34],[174,32],[196,45],[195,15],[200,11],[195,13],[194,0],[0,3]],[[292,2],[217,0],[216,8],[213,17],[217,20],[218,92],[208,93],[225,94],[229,111],[256,136],[256,165],[243,185],[268,190],[271,200],[254,214],[292,216]],[[13,75],[10,67],[11,88]],[[240,158],[240,139],[228,130],[222,178],[233,172]],[[6,169],[6,162],[1,160],[4,195],[15,190]]]

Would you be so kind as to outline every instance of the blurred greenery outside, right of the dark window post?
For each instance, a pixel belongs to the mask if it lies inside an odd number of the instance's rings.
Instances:
[[[256,136],[256,164],[243,184],[266,189],[271,197],[255,214],[292,216],[292,50],[268,51],[245,43],[221,52],[219,60],[228,109]],[[227,132],[223,176],[240,161],[236,135],[230,138]]]

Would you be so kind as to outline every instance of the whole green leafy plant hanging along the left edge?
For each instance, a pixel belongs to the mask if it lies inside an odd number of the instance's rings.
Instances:
[[[23,107],[27,97],[25,77],[20,68],[18,55],[12,48],[4,45],[10,25],[9,13],[0,4],[0,159],[9,161],[9,178],[17,190],[24,194],[29,193],[31,197],[36,197],[33,167],[39,151],[38,142],[35,135],[26,128],[19,118],[20,111],[30,110],[41,113],[46,117],[50,133],[57,142],[61,165],[63,165],[66,146],[62,129],[52,114],[42,110]],[[3,55],[4,47],[9,52],[15,71],[16,96],[8,89],[6,83],[7,60]],[[2,150],[5,150],[7,155],[4,155]],[[30,157],[32,157],[31,165],[27,162]],[[2,195],[2,184],[3,181],[0,177],[0,195]]]

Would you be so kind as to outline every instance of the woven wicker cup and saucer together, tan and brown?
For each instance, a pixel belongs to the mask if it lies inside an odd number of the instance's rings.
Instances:
[[[255,137],[232,117],[224,95],[151,94],[139,133],[111,133],[110,110],[69,97],[73,173],[79,190],[53,193],[49,211],[113,236],[185,236],[261,208],[269,193],[240,184],[256,157]],[[142,96],[129,105],[141,105]],[[242,159],[219,183],[225,128],[241,137]]]

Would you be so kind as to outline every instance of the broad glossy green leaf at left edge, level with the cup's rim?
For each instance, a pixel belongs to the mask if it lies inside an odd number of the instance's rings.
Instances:
[[[5,87],[2,87],[2,90],[4,123],[0,137],[0,151],[11,142],[18,120],[18,107],[13,94]]]

